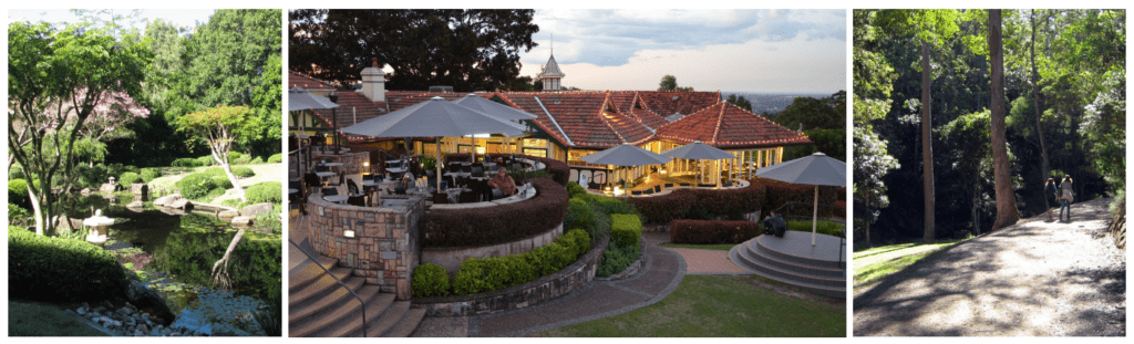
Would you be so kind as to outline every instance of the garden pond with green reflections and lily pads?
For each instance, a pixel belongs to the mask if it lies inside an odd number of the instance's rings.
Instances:
[[[110,226],[107,249],[129,257],[129,266],[152,290],[166,296],[170,309],[184,317],[185,311],[198,316],[204,310],[263,309],[281,303],[281,235],[279,229],[248,229],[232,251],[228,265],[231,285],[212,287],[213,264],[225,256],[237,229],[212,214],[163,212],[152,199],[144,207],[127,208],[132,195],[75,196],[68,200],[71,218],[90,217],[94,209],[115,218]],[[167,213],[169,212],[169,213]],[[208,304],[205,304],[208,303]],[[277,315],[278,309],[277,309]],[[230,317],[231,318],[231,317]],[[248,311],[240,321],[252,322]],[[249,327],[257,328],[257,326]],[[236,326],[231,334],[255,334]],[[217,326],[213,326],[217,329]]]

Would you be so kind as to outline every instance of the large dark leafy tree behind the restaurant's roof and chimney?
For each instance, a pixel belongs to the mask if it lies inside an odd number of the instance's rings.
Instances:
[[[388,89],[494,91],[519,77],[536,46],[534,10],[291,10],[289,70],[333,84],[358,80],[371,59],[389,64]]]

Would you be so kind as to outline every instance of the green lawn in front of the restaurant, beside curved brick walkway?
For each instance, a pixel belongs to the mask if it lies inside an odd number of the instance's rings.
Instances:
[[[843,337],[846,309],[781,295],[755,276],[685,275],[658,303],[538,334],[552,337]]]

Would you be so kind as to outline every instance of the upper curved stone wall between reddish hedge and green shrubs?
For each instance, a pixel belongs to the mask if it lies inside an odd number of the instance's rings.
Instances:
[[[543,246],[556,242],[556,238],[562,235],[564,225],[553,227],[543,234],[536,234],[527,239],[513,242],[505,242],[489,247],[468,248],[422,248],[422,264],[432,263],[445,268],[449,277],[457,276],[460,270],[460,263],[468,258],[508,257],[521,255]]]

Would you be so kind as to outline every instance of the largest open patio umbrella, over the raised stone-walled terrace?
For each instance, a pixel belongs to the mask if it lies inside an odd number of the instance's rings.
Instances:
[[[526,127],[484,112],[432,97],[408,108],[362,121],[340,131],[370,137],[445,137],[522,132]],[[441,144],[437,145],[437,181],[441,186]]]

